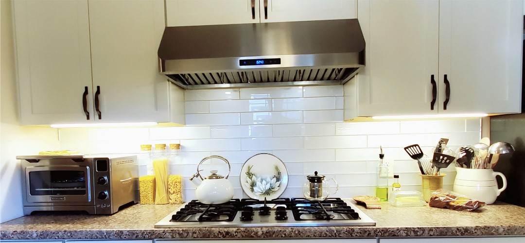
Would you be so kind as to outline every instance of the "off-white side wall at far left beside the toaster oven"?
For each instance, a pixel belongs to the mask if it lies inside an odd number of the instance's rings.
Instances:
[[[23,216],[20,162],[15,156],[59,148],[56,129],[18,125],[11,4],[0,1],[0,222]]]

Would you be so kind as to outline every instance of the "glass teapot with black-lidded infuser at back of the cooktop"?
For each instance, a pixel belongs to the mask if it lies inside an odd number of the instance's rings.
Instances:
[[[307,182],[303,185],[303,196],[311,201],[320,201],[326,199],[328,196],[337,193],[339,191],[339,184],[334,178],[325,179],[324,175],[318,175],[318,172],[314,172],[313,175],[307,175]],[[333,181],[335,190],[328,184],[329,181]]]

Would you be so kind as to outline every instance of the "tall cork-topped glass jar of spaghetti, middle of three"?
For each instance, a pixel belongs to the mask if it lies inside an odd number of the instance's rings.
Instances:
[[[166,144],[155,144],[153,171],[155,174],[155,204],[167,204]]]

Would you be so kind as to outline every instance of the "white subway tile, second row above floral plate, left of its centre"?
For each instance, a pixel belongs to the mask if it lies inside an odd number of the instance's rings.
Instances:
[[[213,139],[272,136],[271,125],[212,126],[210,130]]]

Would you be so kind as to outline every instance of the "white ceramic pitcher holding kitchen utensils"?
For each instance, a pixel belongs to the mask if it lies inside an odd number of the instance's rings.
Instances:
[[[454,192],[467,197],[492,204],[507,188],[507,178],[500,172],[492,169],[470,169],[456,167],[457,175],[454,180]],[[498,188],[496,176],[503,180],[503,186]]]

